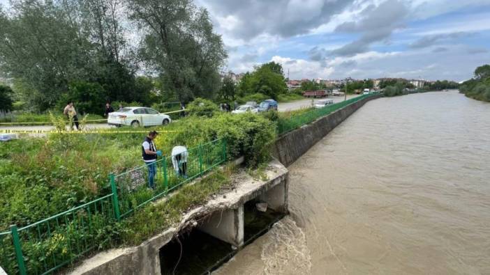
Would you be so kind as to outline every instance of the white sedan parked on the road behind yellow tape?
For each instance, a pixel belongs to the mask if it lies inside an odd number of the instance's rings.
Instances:
[[[147,107],[126,107],[109,113],[107,123],[116,126],[156,126],[167,125],[172,119],[165,113]]]

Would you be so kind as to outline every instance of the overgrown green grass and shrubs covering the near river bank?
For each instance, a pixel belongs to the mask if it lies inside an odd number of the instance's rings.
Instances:
[[[203,113],[198,110],[178,123],[152,128],[161,131],[155,140],[156,147],[164,155],[170,155],[176,145],[193,148],[208,141],[224,139],[228,159],[243,155],[246,165],[252,168],[267,162],[270,144],[276,139],[274,122],[251,113],[222,113],[216,106],[212,111],[212,116],[208,110]],[[58,121],[60,119],[57,118]],[[142,129],[143,132],[150,130]],[[0,143],[0,232],[8,231],[12,224],[22,228],[111,194],[109,173],[119,174],[142,165],[144,136],[146,134],[142,133],[50,134],[47,138]],[[230,173],[228,168],[215,171],[198,184],[183,187],[179,194],[163,205],[143,207],[121,223],[111,215],[92,213],[90,223],[93,230],[90,232],[81,233],[76,221],[59,228],[53,224],[51,229],[38,227],[39,234],[45,235],[42,241],[33,242],[31,236],[24,232],[21,239],[24,256],[29,262],[28,273],[42,271],[47,256],[57,262],[75,257],[70,246],[87,243],[87,238],[98,244],[96,249],[136,244],[179,221],[188,207],[204,203],[211,194],[216,194],[229,183]],[[102,210],[103,205],[101,201],[99,207]],[[105,209],[112,211],[110,204],[105,205]],[[82,219],[86,211],[77,211],[73,219]],[[97,211],[97,208],[91,211]],[[11,265],[3,267],[15,270],[13,246],[8,238],[0,238],[0,243],[0,252],[7,255],[8,265]]]

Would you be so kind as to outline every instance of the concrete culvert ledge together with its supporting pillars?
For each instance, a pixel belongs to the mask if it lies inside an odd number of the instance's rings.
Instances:
[[[243,244],[244,203],[267,193],[269,190],[273,190],[270,194],[275,194],[276,198],[272,200],[274,201],[272,204],[279,205],[283,201],[286,205],[282,207],[287,210],[288,169],[279,161],[273,160],[269,163],[265,173],[267,178],[269,178],[267,181],[253,180],[247,173],[240,173],[238,178],[235,179],[237,180],[237,185],[234,189],[224,191],[211,198],[205,205],[189,210],[184,214],[177,226],[151,237],[139,246],[111,249],[98,253],[96,256],[84,260],[82,265],[70,271],[69,274],[161,274],[159,258],[161,247],[170,242],[175,235],[185,228],[195,228],[206,220],[211,220],[212,223],[213,215],[219,212],[229,212],[231,214],[228,221],[222,220],[221,223],[225,224],[225,228],[231,228],[230,230],[233,230],[233,232],[229,233],[226,229],[216,230],[216,235],[224,232],[225,236],[228,236],[223,237],[225,242],[231,241],[231,244],[237,244],[238,246],[241,245],[240,242]],[[281,188],[274,189],[277,186],[281,186]],[[281,194],[284,194],[283,198],[281,198]],[[239,221],[236,223],[237,219],[235,219],[235,217],[240,217],[240,215],[242,217],[241,224]],[[230,226],[227,222],[235,223],[235,226]],[[216,226],[216,223],[214,225]],[[241,236],[239,230],[242,230]]]

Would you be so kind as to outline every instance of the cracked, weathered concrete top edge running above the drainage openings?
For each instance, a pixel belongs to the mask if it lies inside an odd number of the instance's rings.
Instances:
[[[237,209],[239,205],[288,180],[288,169],[276,159],[269,162],[265,173],[269,180],[253,180],[247,174],[246,180],[240,182],[235,189],[220,193],[211,198],[205,205],[200,205],[186,212],[177,226],[150,237],[138,246],[110,249],[97,253],[91,258],[83,260],[81,265],[73,268],[67,274],[159,274],[158,251],[181,230],[197,226],[200,219],[205,219],[213,212]],[[128,262],[132,264],[128,265]]]

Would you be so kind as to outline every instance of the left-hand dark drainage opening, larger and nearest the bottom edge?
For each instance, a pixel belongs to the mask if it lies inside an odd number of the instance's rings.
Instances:
[[[160,249],[161,274],[208,274],[231,258],[233,252],[230,244],[193,229]]]

